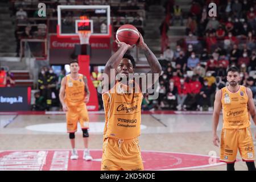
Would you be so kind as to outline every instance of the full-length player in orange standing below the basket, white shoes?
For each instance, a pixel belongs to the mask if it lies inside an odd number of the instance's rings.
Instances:
[[[77,131],[77,122],[79,121],[85,147],[83,158],[85,160],[92,160],[88,150],[89,117],[86,103],[89,101],[90,92],[87,78],[79,74],[79,64],[77,61],[71,61],[70,69],[71,74],[65,76],[61,81],[59,97],[63,111],[67,111],[67,130],[72,146],[71,159],[78,159],[75,149],[75,132]]]

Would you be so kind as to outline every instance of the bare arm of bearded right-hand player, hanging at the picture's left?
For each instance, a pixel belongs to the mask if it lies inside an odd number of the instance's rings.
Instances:
[[[220,111],[221,111],[221,97],[222,91],[218,90],[215,94],[215,101],[214,101],[214,109],[213,109],[213,123],[212,123],[212,130],[213,130],[213,144],[214,146],[218,147],[220,143],[220,139],[217,135],[217,127],[218,127],[218,119],[220,118]]]

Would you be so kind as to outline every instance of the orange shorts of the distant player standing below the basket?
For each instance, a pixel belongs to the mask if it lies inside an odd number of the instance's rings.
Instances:
[[[89,117],[86,105],[79,107],[68,107],[67,132],[74,133],[77,131],[77,123],[80,123],[81,129],[89,129]]]

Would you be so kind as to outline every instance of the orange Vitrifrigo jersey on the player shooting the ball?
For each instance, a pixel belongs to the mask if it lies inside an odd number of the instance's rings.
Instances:
[[[137,87],[137,88],[136,88]],[[134,90],[139,90],[135,93]],[[129,87],[117,82],[102,94],[105,109],[104,138],[132,139],[141,135],[141,104],[143,95],[135,84],[133,93]]]

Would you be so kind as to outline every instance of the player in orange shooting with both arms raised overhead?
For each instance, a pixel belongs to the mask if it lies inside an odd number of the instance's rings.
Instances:
[[[115,74],[122,74],[128,77],[129,73],[134,73],[135,61],[130,55],[125,54],[128,49],[133,48],[124,42],[117,42],[118,51],[110,57],[104,73],[110,78],[110,70],[114,69]],[[158,59],[152,51],[144,43],[140,34],[138,43],[136,44],[147,58],[151,68],[151,73],[158,73],[158,77],[162,72]],[[114,87],[108,89],[108,85],[114,82]],[[127,79],[127,83],[110,80],[103,81],[104,88],[102,99],[105,109],[105,128],[104,128],[104,144],[101,162],[101,170],[143,170],[141,158],[141,150],[139,148],[138,137],[141,134],[141,104],[143,94],[126,93],[130,84],[135,85],[134,88],[140,87],[133,79]],[[153,82],[154,84],[154,82]],[[107,86],[106,86],[107,85]],[[152,85],[147,85],[152,86]]]

